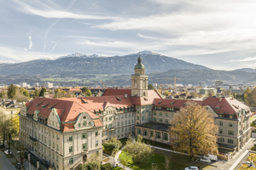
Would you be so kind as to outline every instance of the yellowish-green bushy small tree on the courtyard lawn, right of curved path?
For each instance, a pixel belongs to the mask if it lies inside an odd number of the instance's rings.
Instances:
[[[135,163],[141,163],[146,157],[153,153],[153,149],[148,144],[142,142],[142,135],[137,135],[136,143],[127,143],[125,151],[127,151]]]

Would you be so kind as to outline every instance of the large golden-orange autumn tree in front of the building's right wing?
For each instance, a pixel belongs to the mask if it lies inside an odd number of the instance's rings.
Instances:
[[[188,102],[175,114],[170,126],[172,146],[194,156],[218,153],[218,126],[212,113],[195,102]]]

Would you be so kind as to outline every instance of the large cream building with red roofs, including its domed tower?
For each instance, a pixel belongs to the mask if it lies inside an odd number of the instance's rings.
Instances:
[[[164,99],[148,90],[141,57],[131,75],[131,89],[106,89],[99,97],[36,98],[20,109],[20,141],[56,169],[79,167],[88,157],[102,156],[102,143],[129,134],[170,143],[169,122],[188,100]],[[233,98],[195,101],[219,125],[219,148],[239,150],[250,138],[251,114]]]

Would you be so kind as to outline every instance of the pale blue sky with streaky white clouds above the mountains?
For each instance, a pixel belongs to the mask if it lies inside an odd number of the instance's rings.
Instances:
[[[0,0],[0,61],[145,49],[212,69],[256,68],[256,1]]]

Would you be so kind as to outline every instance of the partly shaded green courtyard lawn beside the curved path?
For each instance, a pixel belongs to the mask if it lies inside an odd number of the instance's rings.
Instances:
[[[169,167],[171,169],[184,169],[185,167],[189,166],[200,166],[202,168],[211,168],[211,165],[199,163],[199,162],[190,162],[189,156],[183,156],[179,154],[175,154],[172,152],[168,152],[168,155],[171,156],[171,162]],[[154,153],[152,156],[148,156],[142,163],[134,164],[132,161],[132,157],[126,152],[123,151],[120,156],[119,160],[125,164],[127,167],[131,167],[134,170],[148,170],[154,167],[158,167],[157,169],[166,170],[165,167],[165,157],[161,154]],[[154,164],[153,164],[154,163]],[[170,169],[170,168],[169,168]]]

